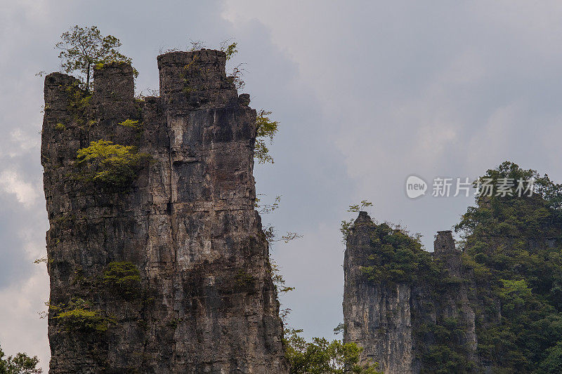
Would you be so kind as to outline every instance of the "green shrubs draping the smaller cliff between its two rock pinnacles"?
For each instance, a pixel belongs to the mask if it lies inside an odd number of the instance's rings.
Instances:
[[[370,205],[362,201],[350,206],[348,211],[357,212]],[[360,269],[365,279],[390,290],[405,283],[412,290],[412,298],[423,304],[418,307],[414,301],[412,305],[416,306],[411,309],[412,339],[417,345],[421,373],[469,373],[474,363],[464,343],[466,323],[457,318],[443,318],[440,312],[442,302],[446,305],[447,300],[455,299],[462,279],[450,276],[443,261],[422,248],[420,235],[411,235],[403,227],[386,222],[377,224],[360,215],[356,221],[342,221],[341,232],[346,242],[355,239],[350,236],[353,233],[364,239],[368,235],[367,251],[361,251],[365,258]],[[357,244],[352,242],[351,246]],[[384,328],[379,330],[384,333]]]

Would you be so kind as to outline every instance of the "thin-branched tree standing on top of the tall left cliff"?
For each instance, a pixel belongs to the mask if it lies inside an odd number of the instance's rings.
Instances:
[[[103,36],[96,26],[72,27],[60,36],[55,44],[60,49],[58,58],[62,60],[63,71],[67,73],[78,70],[86,81],[89,90],[93,67],[99,63],[111,61],[131,62],[131,58],[119,52],[121,41],[113,35]],[[135,71],[136,72],[136,71]]]

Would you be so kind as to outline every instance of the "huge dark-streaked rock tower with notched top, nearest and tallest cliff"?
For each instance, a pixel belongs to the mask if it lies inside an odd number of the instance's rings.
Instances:
[[[51,373],[287,373],[254,210],[256,112],[225,63],[160,55],[161,95],[145,100],[122,63],[96,69],[91,97],[46,76]],[[77,162],[98,140],[131,148]],[[115,170],[127,178],[107,182]]]

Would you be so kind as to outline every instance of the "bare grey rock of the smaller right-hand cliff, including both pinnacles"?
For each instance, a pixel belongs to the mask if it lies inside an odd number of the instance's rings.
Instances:
[[[436,235],[431,261],[435,267],[428,277],[400,283],[372,281],[362,271],[370,266],[370,255],[388,251],[374,236],[376,230],[367,213],[360,212],[347,237],[344,341],[360,345],[362,361],[378,362],[384,373],[476,370],[475,314],[464,281],[469,274],[462,268],[452,233]],[[443,331],[449,332],[445,340]],[[456,357],[457,366],[436,361],[443,350],[444,356]]]

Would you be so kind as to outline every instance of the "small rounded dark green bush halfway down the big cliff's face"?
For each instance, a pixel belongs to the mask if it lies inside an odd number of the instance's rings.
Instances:
[[[141,272],[132,262],[110,262],[105,267],[102,280],[105,286],[126,297],[141,293]]]

